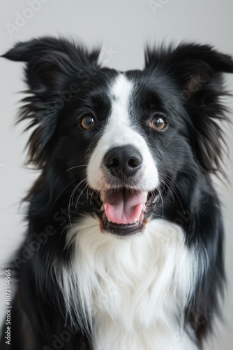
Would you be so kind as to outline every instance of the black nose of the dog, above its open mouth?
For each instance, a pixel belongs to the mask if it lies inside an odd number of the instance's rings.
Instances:
[[[142,155],[133,146],[114,147],[106,153],[104,162],[112,175],[124,179],[136,174]]]

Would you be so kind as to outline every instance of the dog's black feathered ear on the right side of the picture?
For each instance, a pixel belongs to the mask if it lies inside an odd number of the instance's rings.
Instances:
[[[190,116],[195,155],[202,169],[223,172],[223,132],[221,122],[227,120],[227,109],[221,103],[223,74],[233,73],[230,55],[209,45],[181,43],[177,48],[146,50],[146,69],[160,67],[176,83],[177,96]],[[174,99],[174,109],[177,109]],[[176,111],[179,113],[179,111]]]

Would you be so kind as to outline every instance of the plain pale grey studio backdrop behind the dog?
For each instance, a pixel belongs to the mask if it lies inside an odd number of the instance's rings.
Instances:
[[[143,68],[146,44],[197,41],[210,43],[233,55],[232,0],[1,0],[0,13],[0,54],[17,41],[56,35],[76,38],[89,48],[101,45],[103,65],[121,71]],[[26,223],[22,221],[24,206],[20,207],[20,200],[38,174],[24,167],[28,135],[22,134],[23,125],[14,126],[22,97],[20,92],[25,90],[23,64],[0,59],[0,71],[0,264],[3,268],[22,241]],[[226,76],[225,83],[227,90],[232,90],[233,77]],[[233,110],[233,97],[225,99],[225,103]],[[232,181],[233,131],[229,126],[224,129],[229,145],[225,168]],[[206,344],[205,350],[230,350],[233,344],[233,191],[220,181],[214,183],[223,203],[228,290],[222,307],[224,323],[216,323],[213,342]],[[1,278],[1,320],[4,307],[5,283]]]

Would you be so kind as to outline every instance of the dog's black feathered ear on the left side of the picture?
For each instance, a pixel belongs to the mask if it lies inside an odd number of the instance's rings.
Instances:
[[[24,105],[18,121],[29,119],[27,130],[36,127],[28,142],[29,164],[37,168],[45,164],[59,111],[67,100],[62,98],[64,92],[69,87],[77,91],[79,79],[87,80],[87,74],[98,67],[98,55],[99,50],[88,52],[82,45],[52,37],[17,43],[2,55],[13,61],[26,62],[25,76],[29,95],[22,100]],[[70,96],[72,91],[68,92]]]

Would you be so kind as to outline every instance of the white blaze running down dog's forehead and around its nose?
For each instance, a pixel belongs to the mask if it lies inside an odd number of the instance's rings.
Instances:
[[[110,99],[112,111],[102,137],[93,150],[87,168],[89,185],[96,190],[109,188],[103,171],[103,158],[107,151],[117,146],[132,145],[140,151],[143,162],[140,169],[138,188],[153,190],[158,186],[158,171],[148,145],[142,134],[136,129],[133,119],[130,118],[130,104],[133,104],[133,82],[123,73],[119,73],[112,89]]]

